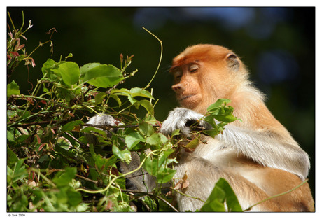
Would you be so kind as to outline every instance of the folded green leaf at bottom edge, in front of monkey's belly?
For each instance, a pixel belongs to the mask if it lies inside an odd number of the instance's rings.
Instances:
[[[227,208],[225,208],[225,204]],[[235,192],[229,183],[219,178],[214,190],[212,190],[207,201],[204,203],[200,211],[242,211]]]

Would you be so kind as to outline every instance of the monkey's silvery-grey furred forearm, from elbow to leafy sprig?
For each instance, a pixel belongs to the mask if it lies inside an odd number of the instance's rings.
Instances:
[[[235,148],[237,153],[259,164],[283,169],[299,176],[302,181],[309,172],[309,155],[300,147],[283,143],[279,136],[227,125],[223,134],[216,138],[222,141],[221,148]]]

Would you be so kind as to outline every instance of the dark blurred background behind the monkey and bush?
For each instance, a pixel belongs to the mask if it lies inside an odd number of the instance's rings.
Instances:
[[[27,52],[52,36],[52,59],[73,53],[70,61],[120,67],[120,53],[134,55],[129,70],[139,69],[124,87],[145,87],[160,58],[151,84],[159,99],[155,117],[164,120],[177,106],[168,69],[172,58],[188,45],[212,43],[234,50],[248,66],[251,79],[267,95],[267,106],[311,157],[309,183],[315,192],[315,8],[7,8],[16,27],[25,13],[34,26],[25,36]],[[34,55],[36,67],[20,64],[10,80],[27,94],[41,78],[41,66],[50,57],[49,45]]]

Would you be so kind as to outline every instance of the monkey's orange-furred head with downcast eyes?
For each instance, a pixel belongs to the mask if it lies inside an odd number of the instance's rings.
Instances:
[[[219,45],[193,45],[173,59],[172,89],[181,106],[206,113],[217,99],[231,99],[247,83],[247,71],[234,52]]]

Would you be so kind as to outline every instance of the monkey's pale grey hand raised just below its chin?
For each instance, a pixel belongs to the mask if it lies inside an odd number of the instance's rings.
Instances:
[[[162,123],[160,132],[171,135],[174,130],[180,129],[182,134],[190,136],[190,127],[193,125],[207,130],[212,129],[208,122],[201,120],[203,117],[204,115],[196,113],[188,108],[174,108],[174,110],[169,113],[167,120]]]

